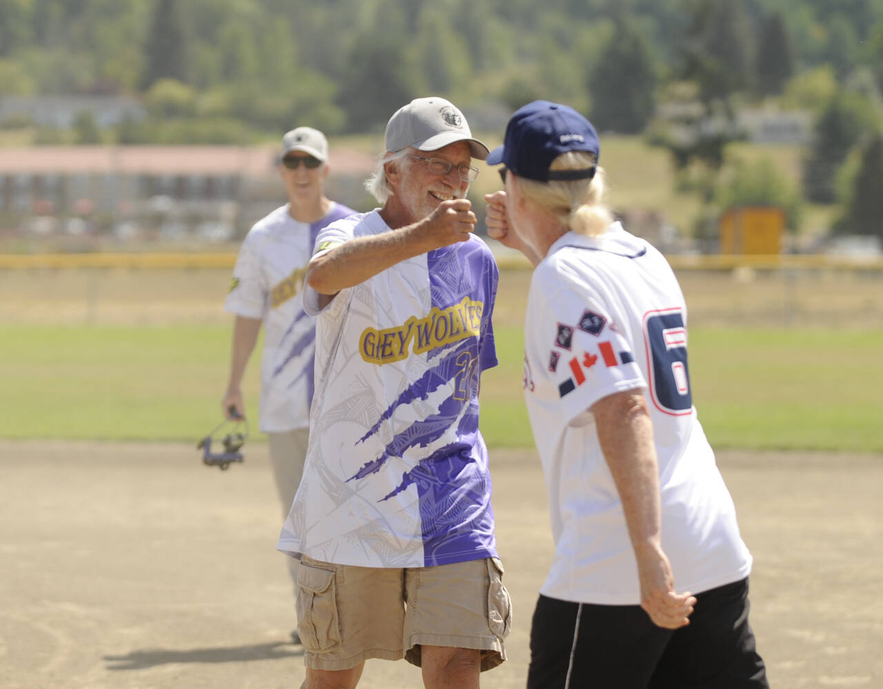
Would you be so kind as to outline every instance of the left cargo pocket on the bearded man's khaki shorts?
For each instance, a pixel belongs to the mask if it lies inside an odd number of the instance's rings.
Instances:
[[[298,567],[298,635],[310,653],[341,645],[334,570],[300,563]]]

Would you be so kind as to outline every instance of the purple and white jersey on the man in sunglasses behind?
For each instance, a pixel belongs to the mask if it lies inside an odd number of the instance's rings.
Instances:
[[[319,231],[355,211],[331,202],[315,223],[291,217],[288,204],[254,223],[239,248],[224,310],[264,321],[260,430],[306,428],[313,398],[315,319],[304,313],[306,264]]]

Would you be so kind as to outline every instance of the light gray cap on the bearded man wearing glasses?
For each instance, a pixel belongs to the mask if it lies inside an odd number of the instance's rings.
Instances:
[[[472,138],[463,113],[452,102],[438,96],[415,98],[396,110],[387,123],[388,151],[409,146],[419,151],[437,151],[455,141],[469,141],[473,158],[487,158],[487,146]]]

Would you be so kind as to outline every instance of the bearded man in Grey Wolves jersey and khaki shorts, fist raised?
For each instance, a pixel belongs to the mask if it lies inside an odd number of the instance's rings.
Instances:
[[[385,144],[366,184],[383,208],[322,231],[307,269],[313,428],[279,549],[302,555],[311,689],[354,687],[372,657],[471,689],[510,625],[479,433],[497,269],[465,199],[487,147],[436,97],[397,110]]]

